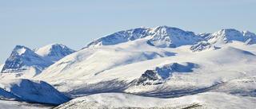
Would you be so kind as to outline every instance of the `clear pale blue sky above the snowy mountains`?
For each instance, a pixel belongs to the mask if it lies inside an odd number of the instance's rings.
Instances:
[[[0,64],[15,45],[81,49],[122,29],[168,25],[194,33],[256,33],[256,0],[0,0]]]

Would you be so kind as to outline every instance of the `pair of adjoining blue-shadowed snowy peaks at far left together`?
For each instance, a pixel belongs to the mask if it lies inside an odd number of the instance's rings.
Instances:
[[[55,61],[75,52],[59,44],[46,45],[34,51],[23,45],[16,45],[2,68],[1,78],[31,78]]]

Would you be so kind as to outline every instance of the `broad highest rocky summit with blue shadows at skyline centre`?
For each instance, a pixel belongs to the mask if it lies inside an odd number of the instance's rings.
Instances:
[[[164,25],[158,26],[154,29],[137,28],[122,30],[120,32],[107,35],[106,37],[91,41],[83,49],[102,45],[117,45],[119,43],[134,41],[140,38],[147,38],[150,44],[157,47],[176,48],[181,45],[192,45],[200,37],[196,36],[193,32]]]

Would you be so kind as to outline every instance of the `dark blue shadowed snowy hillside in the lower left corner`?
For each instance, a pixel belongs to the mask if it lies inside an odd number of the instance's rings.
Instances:
[[[50,84],[31,80],[0,80],[1,99],[16,99],[41,103],[65,103],[68,99]]]

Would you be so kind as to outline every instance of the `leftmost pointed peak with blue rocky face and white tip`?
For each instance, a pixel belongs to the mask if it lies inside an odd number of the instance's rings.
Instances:
[[[50,64],[53,62],[45,60],[25,46],[17,45],[2,68],[1,78],[20,77],[25,73],[28,74],[27,77],[32,77]]]

